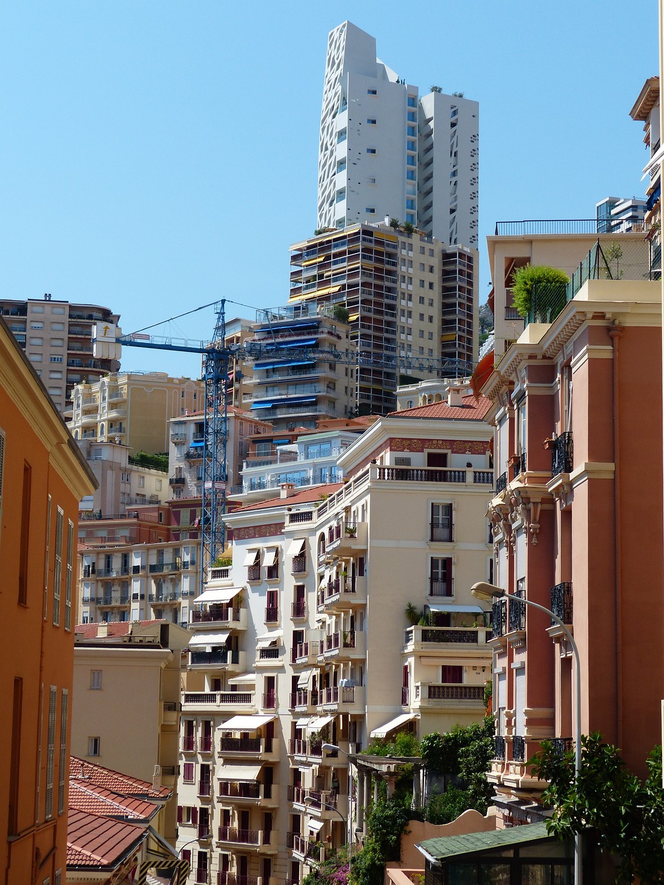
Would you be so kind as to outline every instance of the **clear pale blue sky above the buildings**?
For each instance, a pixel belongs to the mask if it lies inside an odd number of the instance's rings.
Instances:
[[[497,220],[643,196],[629,109],[657,73],[655,0],[21,0],[0,18],[2,296],[104,304],[126,332],[222,296],[284,304],[288,247],[316,223],[328,31],[346,18],[421,93],[480,103],[482,300]],[[127,348],[123,367],[198,361]]]

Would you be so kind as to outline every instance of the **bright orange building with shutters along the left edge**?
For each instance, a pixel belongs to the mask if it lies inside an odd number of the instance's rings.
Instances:
[[[0,318],[0,868],[65,880],[79,499],[95,479]]]

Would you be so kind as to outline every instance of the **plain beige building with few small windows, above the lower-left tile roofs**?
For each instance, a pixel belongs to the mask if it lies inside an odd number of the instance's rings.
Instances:
[[[166,620],[75,628],[72,753],[177,791],[181,651],[187,630]],[[131,691],[127,692],[127,685]],[[127,729],[127,721],[134,723]],[[177,800],[153,824],[175,844]]]

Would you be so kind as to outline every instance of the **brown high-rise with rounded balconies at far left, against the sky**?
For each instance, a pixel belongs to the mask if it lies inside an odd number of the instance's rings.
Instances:
[[[0,299],[0,314],[35,366],[59,412],[66,412],[73,386],[96,381],[120,368],[117,360],[96,358],[92,339],[97,323],[117,326],[120,314],[97,304],[70,304],[28,298]]]

